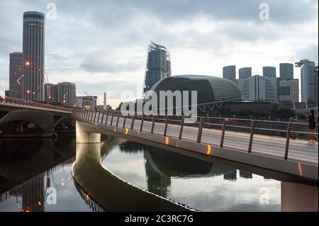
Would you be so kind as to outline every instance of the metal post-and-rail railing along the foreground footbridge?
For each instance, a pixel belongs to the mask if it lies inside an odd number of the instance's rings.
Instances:
[[[187,123],[187,118],[182,115],[146,116],[140,114],[124,116],[119,111],[82,110],[74,111],[73,114],[76,118],[94,123],[157,133],[207,145],[210,145],[213,140],[213,144],[217,144],[219,147],[230,147],[227,142],[225,143],[225,138],[232,137],[232,139],[236,140],[234,144],[236,149],[240,151],[251,153],[259,149],[262,152],[265,151],[266,154],[275,154],[284,159],[289,158],[289,150],[291,150],[290,153],[293,157],[300,157],[300,151],[302,151],[306,153],[306,157],[303,157],[303,162],[315,161],[318,164],[318,149],[317,153],[315,153],[313,149],[303,146],[309,135],[318,137],[318,126],[316,132],[308,132],[307,123],[298,123],[293,120],[283,122],[240,118],[197,117],[193,123]],[[148,122],[147,126],[145,126],[145,122]],[[194,131],[194,128],[196,136],[194,134],[189,135],[189,131]],[[174,130],[174,133],[170,130]],[[260,144],[265,144],[267,149],[263,150],[264,147],[261,147]],[[275,152],[277,149],[280,151]]]

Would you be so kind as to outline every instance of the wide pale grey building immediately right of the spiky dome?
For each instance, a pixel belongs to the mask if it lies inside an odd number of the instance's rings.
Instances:
[[[242,80],[242,79],[240,79]],[[277,78],[254,75],[245,79],[240,87],[246,101],[278,102]]]

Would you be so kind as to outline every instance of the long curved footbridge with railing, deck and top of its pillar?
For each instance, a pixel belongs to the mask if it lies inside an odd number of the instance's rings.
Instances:
[[[123,116],[116,111],[75,111],[77,142],[121,137],[280,181],[318,186],[318,144],[308,145],[305,123],[182,116]],[[318,133],[315,133],[318,136]]]

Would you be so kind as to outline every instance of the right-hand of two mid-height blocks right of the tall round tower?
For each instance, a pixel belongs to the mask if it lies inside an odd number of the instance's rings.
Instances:
[[[71,82],[61,82],[57,84],[57,103],[62,106],[77,106],[76,86]]]

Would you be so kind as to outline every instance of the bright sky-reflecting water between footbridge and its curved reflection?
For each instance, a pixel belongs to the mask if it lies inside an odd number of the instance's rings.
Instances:
[[[154,147],[122,140],[102,164],[125,181],[197,210],[280,211],[281,208],[280,181]],[[268,194],[267,204],[264,197]]]

